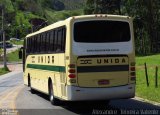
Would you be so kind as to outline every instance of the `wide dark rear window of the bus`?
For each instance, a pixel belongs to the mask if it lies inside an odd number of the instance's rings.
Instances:
[[[84,21],[74,24],[75,42],[104,43],[127,42],[131,39],[128,22]]]

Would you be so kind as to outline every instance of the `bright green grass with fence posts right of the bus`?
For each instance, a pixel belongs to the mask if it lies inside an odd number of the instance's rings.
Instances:
[[[146,84],[144,63],[147,63],[149,87]],[[155,67],[160,67],[160,55],[136,57],[136,95],[148,100],[160,102],[160,71],[158,71],[158,88],[155,88]]]

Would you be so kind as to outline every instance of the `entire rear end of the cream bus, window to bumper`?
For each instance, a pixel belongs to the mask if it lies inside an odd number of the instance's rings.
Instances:
[[[73,20],[68,100],[134,97],[132,19],[111,16]]]

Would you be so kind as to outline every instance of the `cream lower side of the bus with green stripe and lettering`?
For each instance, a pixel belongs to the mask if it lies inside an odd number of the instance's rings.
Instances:
[[[64,94],[66,91],[64,86],[66,78],[64,54],[35,55],[34,59],[32,57],[33,56],[30,55],[26,60],[27,63],[24,73],[24,84],[28,85],[29,75],[31,87],[48,94],[48,80],[51,78],[54,88],[54,95],[62,98],[63,92],[63,96],[65,96]],[[61,89],[63,89],[63,91]]]

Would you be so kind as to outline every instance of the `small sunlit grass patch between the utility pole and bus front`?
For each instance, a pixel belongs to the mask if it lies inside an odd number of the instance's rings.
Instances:
[[[18,51],[19,50],[16,50],[14,52],[11,52],[11,53],[7,54],[7,61],[8,62],[19,62],[19,61],[22,61],[18,57]]]

